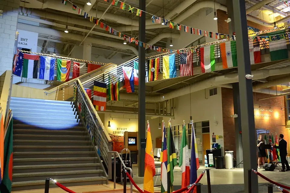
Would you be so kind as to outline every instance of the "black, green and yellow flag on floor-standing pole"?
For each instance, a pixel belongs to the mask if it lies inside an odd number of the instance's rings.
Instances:
[[[174,140],[173,140],[173,135],[171,131],[171,123],[169,122],[169,128],[168,128],[168,144],[167,144],[167,178],[169,181],[167,182],[167,191],[172,192],[172,185],[174,181],[173,177],[173,169],[174,166],[177,165],[177,160],[176,160],[176,153],[175,153],[175,145],[174,145]]]

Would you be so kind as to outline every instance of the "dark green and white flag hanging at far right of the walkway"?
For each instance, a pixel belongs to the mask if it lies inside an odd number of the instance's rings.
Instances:
[[[277,33],[285,33],[285,30],[268,33],[269,38],[269,49],[271,61],[288,59],[288,50],[285,37],[271,37]]]

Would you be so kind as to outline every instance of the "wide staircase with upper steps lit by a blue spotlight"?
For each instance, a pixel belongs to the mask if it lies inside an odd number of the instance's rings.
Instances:
[[[65,186],[107,183],[73,102],[11,97],[10,108],[12,191],[43,189],[45,178]]]

